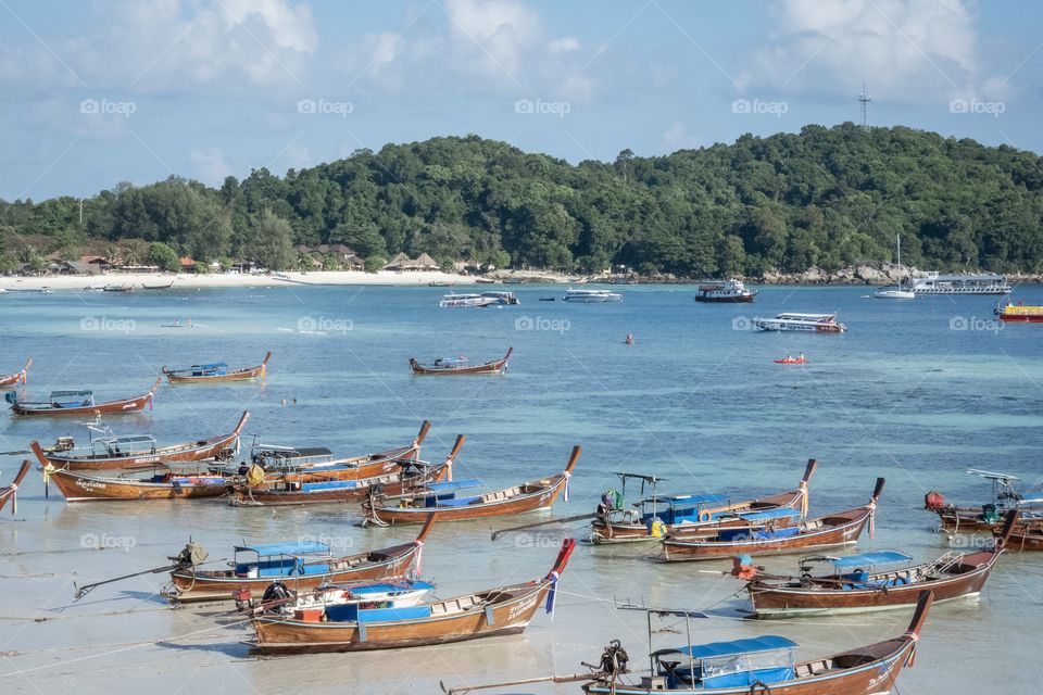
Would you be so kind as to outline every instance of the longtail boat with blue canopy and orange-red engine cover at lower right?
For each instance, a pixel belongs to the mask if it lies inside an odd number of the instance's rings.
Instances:
[[[747,579],[750,604],[758,618],[789,618],[866,610],[910,608],[923,590],[935,602],[978,596],[1015,529],[1018,513],[1007,514],[1004,530],[991,548],[948,552],[928,563],[908,565],[912,558],[895,551],[876,551],[840,557],[805,557],[797,577],[765,574],[749,557],[734,560],[732,574]],[[814,574],[815,565],[832,566],[830,574]],[[875,568],[893,566],[878,571]]]

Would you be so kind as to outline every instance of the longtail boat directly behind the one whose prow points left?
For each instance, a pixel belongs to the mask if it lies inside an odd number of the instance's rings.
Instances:
[[[236,429],[228,434],[169,446],[156,446],[151,437],[103,437],[91,440],[89,453],[46,452],[37,441],[29,446],[41,466],[50,464],[64,470],[129,470],[174,463],[227,460],[239,451],[239,434],[249,418],[250,413],[243,412]]]

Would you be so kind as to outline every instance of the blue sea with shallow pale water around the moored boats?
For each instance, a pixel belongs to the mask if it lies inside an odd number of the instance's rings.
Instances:
[[[515,289],[515,288],[504,288]],[[488,490],[560,471],[582,455],[569,500],[550,514],[436,527],[423,572],[450,597],[542,577],[585,521],[490,532],[592,513],[617,472],[665,479],[659,493],[749,498],[792,490],[808,458],[813,516],[865,504],[887,479],[874,538],[858,548],[926,560],[980,545],[935,530],[923,496],[977,505],[988,480],[1043,482],[1043,326],[994,320],[996,298],[871,299],[866,288],[759,288],[744,305],[700,304],[686,286],[615,287],[620,303],[562,301],[564,289],[518,286],[520,304],[439,308],[445,288],[307,287],[0,295],[0,372],[33,358],[25,392],[91,389],[99,401],[143,393],[161,367],[257,364],[263,382],[159,388],[154,408],[112,416],[117,434],[163,443],[230,431],[326,446],[349,456],[404,445],[425,419],[423,457],[467,441],[457,478]],[[1015,301],[1043,304],[1043,287]],[[765,333],[779,312],[837,312],[843,334]],[[190,323],[190,326],[189,326]],[[632,333],[634,344],[625,343]],[[409,359],[483,362],[514,348],[502,376],[413,377]],[[806,365],[775,359],[803,351]],[[0,414],[0,484],[34,439],[87,440],[85,422]],[[640,488],[629,486],[636,498]],[[645,491],[648,492],[648,491]],[[409,541],[415,529],[359,528],[352,505],[237,508],[222,500],[67,504],[34,469],[17,511],[0,514],[0,683],[10,693],[441,693],[445,688],[583,673],[610,640],[633,668],[650,648],[765,634],[796,641],[800,657],[901,634],[909,611],[782,621],[745,618],[730,561],[656,561],[644,544],[577,547],[555,610],[523,635],[402,650],[256,658],[249,623],[222,604],[172,608],[163,572],[78,585],[168,565],[192,540],[217,561],[243,543],[316,540],[342,554]],[[797,557],[765,558],[794,572]],[[937,606],[902,695],[1038,693],[1030,667],[1040,632],[1043,555],[1005,555],[978,599]],[[653,618],[643,608],[704,617]],[[650,630],[651,624],[651,630]],[[506,693],[579,693],[576,683]]]

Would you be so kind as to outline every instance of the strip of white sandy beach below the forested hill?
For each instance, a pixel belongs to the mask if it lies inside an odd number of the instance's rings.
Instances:
[[[276,275],[241,275],[208,273],[194,274],[162,274],[162,273],[110,273],[106,275],[47,275],[40,277],[5,277],[0,278],[0,289],[4,290],[39,290],[48,288],[59,290],[84,290],[88,287],[101,288],[106,285],[116,287],[131,286],[135,290],[142,286],[164,286],[173,280],[171,289],[192,289],[198,287],[278,287],[290,285],[382,285],[382,286],[427,286],[431,282],[448,283],[450,286],[475,285],[475,277],[455,275],[441,271],[401,271],[381,270],[379,273],[362,271],[313,271],[313,273],[280,273]]]

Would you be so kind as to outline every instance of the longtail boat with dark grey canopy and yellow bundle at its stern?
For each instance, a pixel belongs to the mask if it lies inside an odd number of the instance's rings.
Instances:
[[[397,446],[382,452],[334,458],[326,447],[294,447],[255,444],[251,447],[250,466],[243,471],[259,484],[260,476],[266,482],[301,482],[307,480],[364,480],[399,471],[400,464],[416,460],[420,445],[431,429],[424,420],[420,431],[406,446]],[[228,472],[225,470],[225,472]]]

